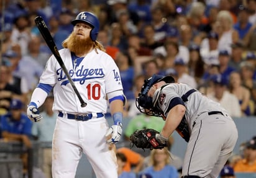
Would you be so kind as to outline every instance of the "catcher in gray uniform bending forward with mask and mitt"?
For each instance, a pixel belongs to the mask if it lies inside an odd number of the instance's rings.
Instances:
[[[165,125],[160,133],[135,131],[130,136],[134,145],[161,149],[176,130],[188,142],[182,177],[219,176],[238,133],[232,118],[217,102],[186,84],[175,83],[171,76],[153,75],[145,80],[136,106],[142,113],[162,117]]]

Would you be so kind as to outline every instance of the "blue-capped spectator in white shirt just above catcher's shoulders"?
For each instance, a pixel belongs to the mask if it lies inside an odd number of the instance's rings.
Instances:
[[[178,74],[177,82],[188,84],[190,87],[197,88],[198,84],[193,76],[188,74],[188,65],[185,64],[183,59],[177,58],[174,62],[175,71]]]

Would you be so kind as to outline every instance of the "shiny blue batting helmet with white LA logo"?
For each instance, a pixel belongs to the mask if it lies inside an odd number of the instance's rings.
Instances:
[[[76,23],[78,23],[78,22],[86,22],[89,25],[91,25],[91,27],[93,27],[89,36],[90,36],[91,40],[96,41],[96,38],[97,38],[98,33],[99,33],[98,17],[96,17],[91,12],[80,12],[76,16],[76,19],[71,21],[71,24],[76,25]]]

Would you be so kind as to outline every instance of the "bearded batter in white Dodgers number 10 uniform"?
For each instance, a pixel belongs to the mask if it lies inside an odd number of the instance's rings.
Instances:
[[[63,42],[60,56],[87,106],[81,107],[70,82],[54,56],[50,56],[32,93],[27,116],[39,122],[39,107],[53,89],[53,110],[58,112],[52,142],[53,178],[75,177],[76,168],[85,153],[96,177],[117,178],[114,149],[122,134],[122,112],[126,97],[114,60],[96,41],[99,20],[91,12],[80,12],[73,32]],[[107,100],[114,121],[108,127],[104,118]]]

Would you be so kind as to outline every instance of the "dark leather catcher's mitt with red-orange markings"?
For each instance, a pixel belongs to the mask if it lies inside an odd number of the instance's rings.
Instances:
[[[142,130],[136,130],[130,135],[130,141],[137,148],[142,149],[162,149],[167,146],[167,141],[157,140],[156,135],[159,131],[152,128],[144,128]]]

